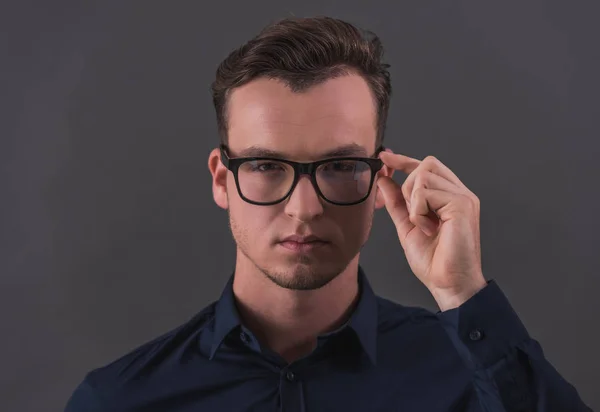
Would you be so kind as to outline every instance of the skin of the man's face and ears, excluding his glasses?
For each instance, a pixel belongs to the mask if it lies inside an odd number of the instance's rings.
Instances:
[[[376,150],[374,101],[357,75],[331,79],[303,93],[292,92],[278,80],[257,79],[234,90],[228,104],[231,158],[247,156],[250,148],[299,162],[320,160],[341,147],[354,146],[347,156],[371,157]],[[240,197],[217,149],[210,155],[209,168],[215,202],[229,212],[238,259],[288,289],[317,289],[341,273],[366,242],[375,208],[384,204],[375,184],[362,203],[330,204],[303,175],[282,202],[253,205]],[[384,167],[379,174],[391,173]],[[291,235],[314,235],[323,242],[294,248],[282,243]]]

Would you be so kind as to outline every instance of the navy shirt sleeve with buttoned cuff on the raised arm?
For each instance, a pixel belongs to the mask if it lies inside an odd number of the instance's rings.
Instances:
[[[592,412],[545,358],[494,280],[437,316],[474,371],[473,410]]]

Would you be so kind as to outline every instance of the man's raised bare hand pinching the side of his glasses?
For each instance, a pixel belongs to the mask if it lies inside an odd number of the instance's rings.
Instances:
[[[442,311],[460,306],[487,285],[479,199],[433,156],[420,161],[385,151],[380,158],[408,175],[401,187],[389,177],[379,177],[377,186],[410,268]]]

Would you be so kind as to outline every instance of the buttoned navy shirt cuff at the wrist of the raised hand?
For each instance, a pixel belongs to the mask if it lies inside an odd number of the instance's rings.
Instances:
[[[456,331],[483,367],[497,362],[511,349],[530,339],[519,316],[493,279],[461,306],[438,312],[437,316]]]

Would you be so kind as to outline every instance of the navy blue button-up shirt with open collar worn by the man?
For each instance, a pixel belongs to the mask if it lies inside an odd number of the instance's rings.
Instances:
[[[240,323],[232,275],[187,323],[89,372],[66,412],[591,411],[494,280],[438,313],[358,281],[349,321],[288,364]]]

